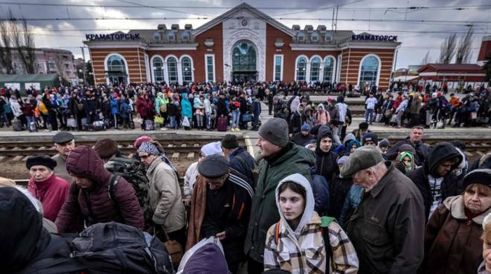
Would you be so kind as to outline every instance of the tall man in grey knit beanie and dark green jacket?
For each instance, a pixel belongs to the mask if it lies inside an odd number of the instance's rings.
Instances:
[[[289,141],[288,123],[282,118],[271,118],[259,128],[257,146],[263,158],[259,164],[259,176],[253,208],[250,214],[244,252],[248,255],[248,272],[264,270],[264,245],[266,234],[280,216],[274,191],[285,177],[300,173],[311,181],[310,167],[316,165],[312,151]]]

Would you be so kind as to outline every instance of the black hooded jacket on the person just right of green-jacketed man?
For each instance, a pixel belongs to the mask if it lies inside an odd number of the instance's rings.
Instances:
[[[334,152],[332,146],[328,152],[321,151],[321,139],[324,137],[330,137],[332,139],[332,133],[327,125],[321,126],[317,134],[317,146],[316,146],[316,160],[317,160],[317,174],[322,175],[325,181],[330,181],[332,174],[338,171],[337,167],[337,153]]]

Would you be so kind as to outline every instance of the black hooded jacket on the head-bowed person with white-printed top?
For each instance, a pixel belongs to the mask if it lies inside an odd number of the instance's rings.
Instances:
[[[441,182],[441,201],[445,200],[450,196],[457,196],[458,185],[457,176],[452,172],[462,161],[462,155],[455,149],[455,146],[448,142],[441,142],[436,144],[436,146],[431,149],[430,153],[426,157],[424,165],[422,167],[413,170],[408,177],[416,184],[417,188],[421,192],[424,200],[424,213],[426,215],[426,220],[428,220],[429,212],[431,208],[431,203],[433,203],[433,196],[431,194],[431,186],[428,179],[430,174],[432,177],[441,177],[436,173],[438,166],[447,160],[452,160],[456,158],[455,165],[452,165],[450,171],[443,176],[443,181]]]

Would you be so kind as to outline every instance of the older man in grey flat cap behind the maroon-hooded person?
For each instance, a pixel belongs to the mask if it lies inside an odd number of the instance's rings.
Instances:
[[[67,172],[67,156],[75,149],[75,137],[70,132],[60,131],[53,136],[53,143],[58,154],[51,157],[56,161],[55,174],[71,183],[73,178]]]

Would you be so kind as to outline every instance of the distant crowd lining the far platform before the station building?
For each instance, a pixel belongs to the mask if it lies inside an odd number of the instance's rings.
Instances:
[[[136,124],[142,130],[227,130],[228,125],[231,131],[257,130],[264,102],[270,115],[288,122],[290,132],[300,132],[304,124],[311,128],[327,124],[340,144],[342,137],[337,136],[344,136],[351,123],[344,98],[356,90],[352,85],[335,86],[255,81],[182,86],[149,83],[29,89],[25,95],[2,88],[0,127],[12,125],[14,130],[30,131],[129,130]],[[447,97],[448,90],[436,85],[396,90],[384,92],[374,86],[363,93],[365,122],[397,128],[444,128],[452,121],[456,128],[491,125],[490,93],[484,86],[469,91],[462,99],[454,93]],[[332,96],[318,104],[310,100],[309,95],[314,94]],[[225,128],[218,125],[220,118],[225,119]]]

